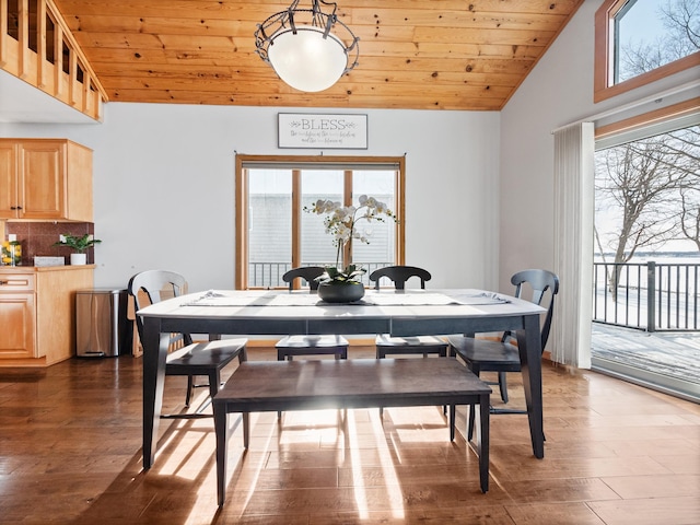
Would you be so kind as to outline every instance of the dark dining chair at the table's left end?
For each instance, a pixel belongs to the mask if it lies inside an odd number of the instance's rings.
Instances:
[[[187,281],[176,272],[167,270],[147,270],[137,273],[129,280],[128,293],[133,298],[139,311],[155,304],[163,299],[187,293]],[[143,319],[137,315],[136,324],[139,337],[143,337]],[[209,397],[195,412],[163,415],[162,418],[211,418],[202,410],[211,402],[221,386],[221,371],[235,358],[238,362],[247,360],[247,339],[220,339],[214,341],[192,342],[189,334],[171,334],[170,351],[166,358],[165,375],[187,376],[185,407],[189,407],[194,389],[209,387]],[[197,384],[197,376],[207,376],[207,384]]]

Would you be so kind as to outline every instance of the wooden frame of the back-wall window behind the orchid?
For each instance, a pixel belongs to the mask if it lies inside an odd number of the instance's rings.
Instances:
[[[348,185],[348,167],[349,165],[358,166],[362,164],[374,165],[387,164],[396,166],[396,209],[393,209],[397,217],[396,228],[396,264],[404,265],[406,260],[406,199],[405,199],[405,180],[406,180],[406,158],[404,156],[307,156],[307,155],[244,155],[236,154],[235,158],[235,276],[234,283],[236,290],[253,289],[248,283],[248,178],[245,173],[244,164],[279,164],[280,167],[289,168],[293,173],[299,172],[303,164],[324,164],[334,165],[337,170],[346,172],[345,186],[346,196],[349,195]],[[351,173],[351,172],[350,172]],[[300,177],[292,176],[292,191],[299,192]],[[300,257],[300,224],[299,217],[301,210],[294,205],[296,199],[292,199],[292,261],[294,257]],[[349,206],[345,202],[343,206]],[[296,253],[295,253],[296,250]]]

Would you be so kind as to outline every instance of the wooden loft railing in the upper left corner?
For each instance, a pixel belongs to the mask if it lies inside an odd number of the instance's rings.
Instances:
[[[107,94],[51,0],[0,0],[0,68],[102,120]]]

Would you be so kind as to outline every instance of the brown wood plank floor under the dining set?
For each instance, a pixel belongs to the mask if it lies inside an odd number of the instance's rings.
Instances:
[[[533,456],[526,416],[492,416],[487,494],[440,407],[385,409],[383,423],[376,409],[285,412],[279,424],[261,413],[247,453],[241,428],[231,438],[219,510],[212,420],[163,421],[142,471],[141,365],[124,355],[0,369],[0,523],[700,524],[700,406],[549,364],[545,458]],[[518,374],[509,380],[509,405],[523,407]],[[183,399],[184,382],[168,377],[164,408]]]

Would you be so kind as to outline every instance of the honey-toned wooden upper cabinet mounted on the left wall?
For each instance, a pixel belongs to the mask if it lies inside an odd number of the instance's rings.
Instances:
[[[62,139],[0,139],[0,220],[93,222],[92,150]]]

